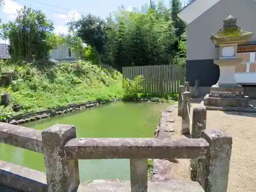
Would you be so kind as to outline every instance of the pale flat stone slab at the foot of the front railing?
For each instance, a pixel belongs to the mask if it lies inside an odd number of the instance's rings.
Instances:
[[[104,180],[103,180],[104,181]],[[81,183],[77,192],[131,192],[130,182]],[[147,192],[204,192],[198,182],[148,182]]]

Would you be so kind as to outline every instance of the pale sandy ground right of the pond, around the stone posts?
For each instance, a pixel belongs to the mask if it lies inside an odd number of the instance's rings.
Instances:
[[[201,100],[191,103],[194,106]],[[255,102],[255,101],[253,101]],[[174,112],[173,112],[174,113]],[[175,112],[174,137],[180,134],[181,117]],[[233,138],[228,192],[256,191],[256,114],[207,111],[206,129],[220,129]],[[179,159],[171,173],[175,178],[189,180],[189,160]]]

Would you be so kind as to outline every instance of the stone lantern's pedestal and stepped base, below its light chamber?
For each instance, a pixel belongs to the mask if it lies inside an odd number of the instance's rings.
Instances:
[[[220,67],[220,78],[204,97],[206,109],[254,112],[256,109],[250,105],[249,97],[243,94],[243,87],[234,78],[234,69],[241,59],[215,59],[214,62]]]

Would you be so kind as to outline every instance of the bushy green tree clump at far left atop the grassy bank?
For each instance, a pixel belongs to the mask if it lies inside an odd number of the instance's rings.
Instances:
[[[50,50],[57,45],[53,23],[47,20],[42,11],[26,6],[17,13],[14,22],[4,25],[10,41],[9,52],[12,59],[48,59]]]

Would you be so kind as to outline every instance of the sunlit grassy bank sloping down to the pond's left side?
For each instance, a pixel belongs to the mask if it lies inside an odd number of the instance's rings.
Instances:
[[[11,94],[11,104],[1,106],[1,119],[17,115],[12,105],[21,106],[20,113],[53,109],[68,103],[88,100],[109,100],[122,96],[122,75],[90,62],[60,63],[47,70],[38,70],[32,63],[0,63],[1,75],[15,71],[10,86],[1,94]]]

